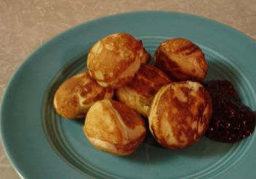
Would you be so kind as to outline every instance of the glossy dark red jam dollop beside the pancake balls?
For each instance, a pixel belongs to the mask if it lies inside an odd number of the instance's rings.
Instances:
[[[243,140],[255,130],[256,113],[241,103],[241,99],[227,80],[203,83],[211,94],[213,113],[206,137],[220,142]]]

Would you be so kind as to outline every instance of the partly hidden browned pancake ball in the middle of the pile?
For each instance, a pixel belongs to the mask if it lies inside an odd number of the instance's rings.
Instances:
[[[118,101],[127,104],[144,117],[148,117],[149,107],[162,85],[171,83],[164,72],[151,64],[141,64],[131,82],[116,89]]]

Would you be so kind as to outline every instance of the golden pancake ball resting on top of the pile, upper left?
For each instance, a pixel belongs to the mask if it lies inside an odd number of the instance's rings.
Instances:
[[[103,87],[118,88],[132,80],[143,58],[142,42],[129,34],[112,34],[100,39],[88,55],[91,77]]]

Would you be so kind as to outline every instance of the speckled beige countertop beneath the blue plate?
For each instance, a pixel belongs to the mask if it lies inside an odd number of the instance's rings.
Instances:
[[[120,12],[165,10],[217,20],[256,39],[255,0],[1,0],[0,101],[10,77],[42,43],[72,26]],[[0,178],[20,178],[0,144]]]

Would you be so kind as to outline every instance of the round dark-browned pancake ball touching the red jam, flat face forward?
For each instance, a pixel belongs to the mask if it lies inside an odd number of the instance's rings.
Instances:
[[[149,129],[159,144],[170,149],[187,148],[208,128],[211,97],[200,83],[173,82],[154,96],[148,116]]]

